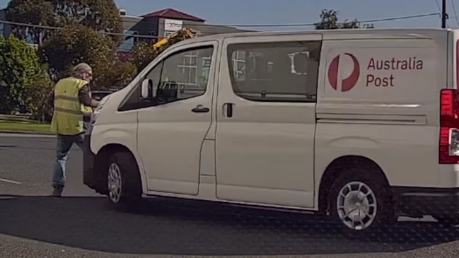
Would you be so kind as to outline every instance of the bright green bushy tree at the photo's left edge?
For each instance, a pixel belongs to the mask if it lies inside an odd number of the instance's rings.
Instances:
[[[16,37],[0,37],[0,112],[30,105],[30,87],[42,71],[35,49]]]

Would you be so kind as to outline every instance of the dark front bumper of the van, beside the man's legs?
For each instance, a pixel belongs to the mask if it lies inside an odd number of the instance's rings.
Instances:
[[[99,194],[107,194],[106,178],[98,171],[96,156],[91,151],[91,134],[86,134],[83,142],[83,184]]]

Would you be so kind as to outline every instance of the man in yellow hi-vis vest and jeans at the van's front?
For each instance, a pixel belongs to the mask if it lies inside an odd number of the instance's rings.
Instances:
[[[83,149],[85,127],[91,121],[93,107],[99,104],[91,98],[89,82],[92,78],[91,66],[77,64],[72,76],[58,81],[48,98],[48,103],[54,106],[51,130],[57,134],[57,163],[52,177],[54,197],[61,197],[64,189],[65,166],[70,148],[76,143]]]

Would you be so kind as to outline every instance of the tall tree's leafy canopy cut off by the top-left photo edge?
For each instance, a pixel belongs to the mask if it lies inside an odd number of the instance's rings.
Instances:
[[[110,47],[116,49],[123,40],[122,20],[113,0],[11,0],[6,7],[7,19],[18,23],[67,27],[81,24],[108,35]],[[13,33],[25,38],[42,33],[45,39],[48,30],[42,28],[14,26]]]

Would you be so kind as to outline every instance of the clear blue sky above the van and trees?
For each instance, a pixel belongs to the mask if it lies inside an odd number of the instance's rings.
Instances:
[[[439,28],[441,0],[115,0],[127,14],[140,16],[163,8],[175,8],[219,25],[310,24],[323,8],[339,11],[342,20],[374,20],[425,13],[438,16],[373,23],[376,28]],[[8,0],[0,0],[5,7]],[[454,4],[454,5],[453,5]],[[454,8],[455,7],[455,8]],[[459,0],[448,0],[448,28],[459,28]],[[254,28],[254,27],[248,27]],[[305,30],[311,27],[255,27],[258,30]]]

